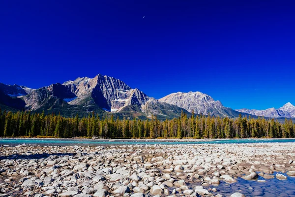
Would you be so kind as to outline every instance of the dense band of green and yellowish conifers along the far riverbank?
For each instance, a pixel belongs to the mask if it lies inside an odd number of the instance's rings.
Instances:
[[[102,138],[248,138],[248,137],[295,137],[292,120],[281,124],[274,119],[266,120],[242,117],[195,115],[181,113],[181,117],[160,121],[151,119],[99,118],[92,113],[88,117],[72,118],[60,115],[44,115],[29,111],[6,112],[0,109],[0,136],[48,136],[48,137],[102,137]]]

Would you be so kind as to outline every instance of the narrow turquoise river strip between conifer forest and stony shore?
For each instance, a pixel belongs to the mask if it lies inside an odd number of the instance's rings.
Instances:
[[[167,140],[79,140],[79,139],[0,139],[0,145],[16,146],[23,143],[39,146],[98,146],[98,145],[132,145],[132,144],[229,144],[229,143],[267,143],[267,142],[295,142],[295,139],[214,139],[211,141],[167,141]]]

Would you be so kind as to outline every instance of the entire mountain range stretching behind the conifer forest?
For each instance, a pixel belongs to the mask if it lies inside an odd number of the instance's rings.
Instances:
[[[82,77],[64,83],[55,83],[39,89],[0,83],[0,108],[5,110],[44,111],[46,114],[60,113],[63,116],[113,114],[115,117],[159,119],[179,117],[181,111],[190,114],[228,116],[265,116],[281,118],[295,117],[295,106],[285,104],[279,109],[233,110],[201,92],[172,93],[161,99],[148,97],[123,81],[110,76],[96,75],[94,78]]]

